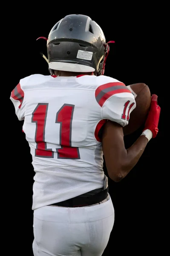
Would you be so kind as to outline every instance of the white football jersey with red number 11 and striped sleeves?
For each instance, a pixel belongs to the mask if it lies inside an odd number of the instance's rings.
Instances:
[[[31,75],[11,93],[35,170],[32,209],[104,186],[98,131],[107,119],[128,124],[130,90],[108,76]]]

